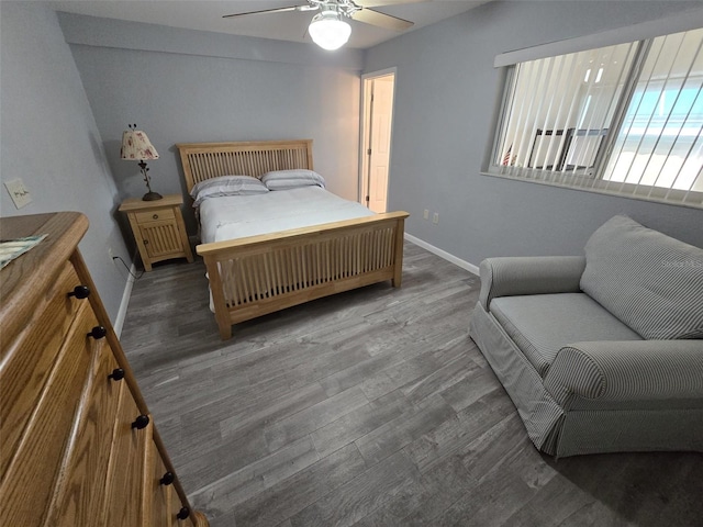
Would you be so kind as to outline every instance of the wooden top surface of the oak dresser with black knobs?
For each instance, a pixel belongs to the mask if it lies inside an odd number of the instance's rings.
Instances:
[[[3,240],[47,235],[0,269],[2,333],[8,326],[30,317],[37,296],[54,281],[86,231],[88,218],[79,212],[0,217],[0,238]]]

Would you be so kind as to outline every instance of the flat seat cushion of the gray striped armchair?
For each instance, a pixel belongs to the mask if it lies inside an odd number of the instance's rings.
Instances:
[[[641,340],[584,293],[501,296],[491,313],[544,378],[559,349],[593,340]]]

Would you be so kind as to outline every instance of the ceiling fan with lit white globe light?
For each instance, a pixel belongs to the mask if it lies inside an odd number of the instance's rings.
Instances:
[[[375,11],[370,8],[415,3],[423,0],[308,0],[308,3],[288,8],[264,9],[246,13],[225,14],[223,19],[245,16],[249,14],[283,13],[290,11],[320,11],[315,14],[308,32],[313,42],[328,51],[338,49],[349,40],[352,26],[346,19],[376,25],[387,30],[403,31],[413,25],[412,22],[398,16]]]

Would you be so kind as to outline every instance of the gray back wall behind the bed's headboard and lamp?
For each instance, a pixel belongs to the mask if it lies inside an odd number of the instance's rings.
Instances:
[[[177,143],[314,139],[327,187],[357,199],[361,52],[59,13],[121,197],[145,186],[119,159],[127,123],[160,158],[152,187],[183,193]],[[191,214],[189,232],[196,233]]]

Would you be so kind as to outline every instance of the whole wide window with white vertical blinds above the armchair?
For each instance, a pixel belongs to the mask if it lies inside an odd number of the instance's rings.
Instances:
[[[511,66],[489,172],[703,208],[703,29]]]

